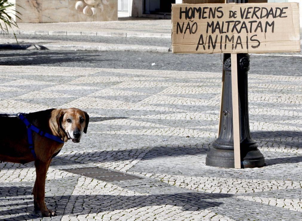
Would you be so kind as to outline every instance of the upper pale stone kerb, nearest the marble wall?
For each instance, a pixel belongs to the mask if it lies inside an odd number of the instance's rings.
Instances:
[[[0,34],[3,34],[0,31]],[[6,34],[6,33],[4,33]],[[106,36],[106,37],[159,37],[171,38],[168,33],[142,33],[142,32],[88,32],[88,31],[26,31],[17,30],[15,34],[40,34],[40,35],[84,35],[84,36]]]

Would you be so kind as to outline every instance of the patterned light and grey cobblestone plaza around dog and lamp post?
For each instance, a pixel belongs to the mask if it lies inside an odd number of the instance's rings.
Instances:
[[[302,220],[302,77],[249,74],[249,116],[266,166],[205,165],[221,73],[0,66],[1,112],[78,107],[90,123],[50,165],[51,220]],[[64,169],[139,178],[105,182]],[[40,220],[34,164],[0,164],[0,220]],[[43,220],[50,220],[44,218]]]

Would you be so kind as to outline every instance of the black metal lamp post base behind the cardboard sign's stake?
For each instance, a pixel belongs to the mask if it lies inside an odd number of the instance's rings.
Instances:
[[[231,56],[223,56],[223,115],[220,119],[219,137],[214,141],[213,148],[207,154],[206,165],[213,167],[234,168],[234,139],[233,139],[233,107],[231,84]],[[240,119],[240,155],[241,168],[263,167],[264,157],[257,148],[249,131],[248,85],[249,55],[237,54],[239,119]]]

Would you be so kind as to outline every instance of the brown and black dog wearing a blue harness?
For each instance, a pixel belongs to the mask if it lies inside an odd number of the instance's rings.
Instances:
[[[80,142],[82,132],[87,132],[89,122],[88,114],[77,108],[48,109],[24,116],[41,131],[59,137],[64,142],[69,139]],[[2,116],[0,122],[0,161],[22,164],[35,161],[36,181],[32,192],[34,208],[41,210],[42,216],[56,216],[45,205],[45,180],[52,158],[59,153],[64,143],[32,132],[33,153],[29,149],[27,127],[21,119]]]

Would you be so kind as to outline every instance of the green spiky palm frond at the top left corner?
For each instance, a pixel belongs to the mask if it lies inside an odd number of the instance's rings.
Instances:
[[[3,34],[8,34],[8,30],[9,29],[12,30],[13,26],[18,28],[18,24],[16,23],[16,21],[14,21],[14,18],[11,16],[11,14],[13,14],[12,12],[15,12],[16,18],[19,18],[19,19],[20,19],[20,17],[17,14],[19,14],[19,15],[21,15],[21,14],[12,8],[14,6],[15,5],[8,2],[8,0],[0,0],[0,29],[2,30]],[[7,12],[8,9],[11,12]],[[14,30],[12,30],[12,31],[13,31],[14,37],[17,41],[16,34],[15,34]]]

